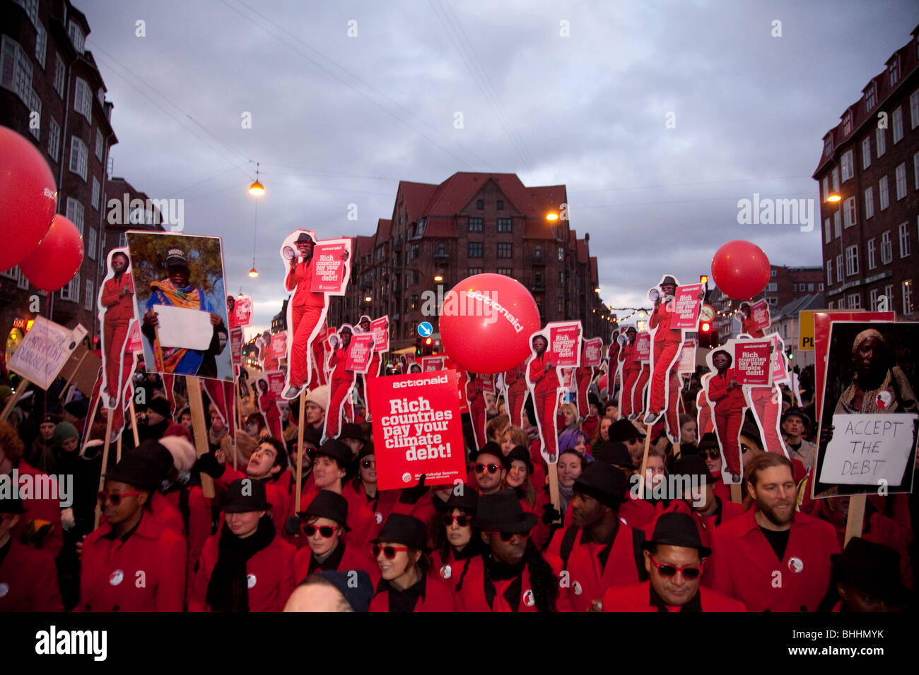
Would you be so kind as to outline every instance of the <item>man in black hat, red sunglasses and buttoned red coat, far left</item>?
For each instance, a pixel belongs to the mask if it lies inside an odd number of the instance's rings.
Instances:
[[[182,611],[186,545],[150,512],[156,474],[137,452],[108,472],[99,492],[106,522],[83,542],[78,611]]]

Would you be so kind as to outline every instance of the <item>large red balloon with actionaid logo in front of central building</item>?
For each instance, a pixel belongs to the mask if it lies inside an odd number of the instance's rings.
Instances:
[[[440,309],[440,341],[464,370],[503,373],[529,355],[539,331],[536,300],[504,275],[473,275],[451,288]]]

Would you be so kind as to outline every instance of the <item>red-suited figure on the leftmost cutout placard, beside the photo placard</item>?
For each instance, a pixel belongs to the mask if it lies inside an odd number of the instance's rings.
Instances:
[[[105,349],[108,407],[114,408],[121,384],[124,343],[128,340],[130,321],[134,318],[134,282],[126,274],[130,261],[125,253],[112,253],[112,277],[102,285],[99,302],[102,314],[102,344]]]

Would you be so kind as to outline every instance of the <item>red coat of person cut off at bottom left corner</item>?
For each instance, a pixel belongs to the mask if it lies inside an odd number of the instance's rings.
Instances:
[[[0,612],[63,612],[54,558],[10,538],[0,562]]]

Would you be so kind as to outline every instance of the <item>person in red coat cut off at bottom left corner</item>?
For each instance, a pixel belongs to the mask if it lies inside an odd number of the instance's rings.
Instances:
[[[63,612],[54,558],[10,534],[25,512],[18,498],[0,497],[0,612]]]

